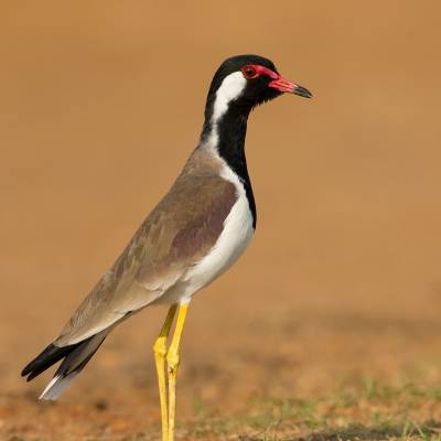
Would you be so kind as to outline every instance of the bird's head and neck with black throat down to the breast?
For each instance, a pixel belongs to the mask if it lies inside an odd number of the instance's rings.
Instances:
[[[250,110],[284,93],[311,98],[305,88],[284,79],[275,64],[258,55],[237,55],[225,60],[209,86],[201,147],[215,148],[236,173],[248,197],[256,226],[256,204],[245,158],[245,137]]]

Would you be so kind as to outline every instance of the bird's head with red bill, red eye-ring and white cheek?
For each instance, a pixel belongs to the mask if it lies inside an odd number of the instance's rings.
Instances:
[[[230,106],[249,112],[252,107],[277,98],[282,94],[293,94],[312,98],[312,94],[286,78],[275,64],[258,55],[237,55],[225,60],[216,71],[208,92],[207,106],[212,119],[216,120]]]

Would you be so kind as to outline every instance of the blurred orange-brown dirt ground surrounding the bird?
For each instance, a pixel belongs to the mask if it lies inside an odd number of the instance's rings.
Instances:
[[[162,309],[56,404],[36,399],[51,373],[20,372],[168,190],[239,53],[314,99],[251,115],[257,234],[192,303],[179,439],[439,437],[440,19],[430,0],[2,1],[0,439],[159,439]]]

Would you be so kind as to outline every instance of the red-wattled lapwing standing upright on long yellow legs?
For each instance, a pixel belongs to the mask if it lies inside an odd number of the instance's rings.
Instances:
[[[118,324],[147,306],[165,304],[153,353],[162,441],[174,440],[180,343],[190,303],[238,259],[256,229],[245,154],[248,116],[284,94],[312,98],[263,56],[236,55],[220,64],[200,141],[182,172],[60,335],[23,368],[30,381],[62,361],[41,399],[57,399]]]

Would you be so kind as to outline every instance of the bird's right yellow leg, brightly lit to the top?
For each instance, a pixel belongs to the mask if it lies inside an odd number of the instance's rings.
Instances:
[[[180,362],[179,348],[181,342],[182,331],[184,329],[185,316],[189,310],[187,304],[181,304],[176,327],[174,330],[173,340],[170,344],[169,352],[166,353],[166,363],[169,365],[169,439],[174,440],[174,417],[176,413],[176,374]]]

